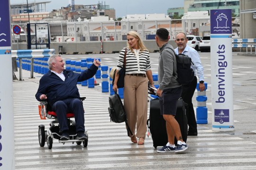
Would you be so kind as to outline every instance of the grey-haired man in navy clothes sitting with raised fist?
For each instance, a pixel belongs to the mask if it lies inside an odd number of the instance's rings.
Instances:
[[[38,101],[46,100],[48,103],[47,107],[50,107],[56,113],[59,133],[62,134],[61,136],[59,135],[60,137],[57,137],[60,141],[70,140],[70,121],[67,119],[67,113],[73,113],[74,115],[76,139],[85,140],[87,138],[84,128],[82,99],[76,84],[79,81],[85,81],[93,77],[100,64],[99,60],[94,59],[91,67],[80,74],[71,70],[65,70],[61,55],[49,57],[48,65],[50,71],[40,79],[36,98]]]

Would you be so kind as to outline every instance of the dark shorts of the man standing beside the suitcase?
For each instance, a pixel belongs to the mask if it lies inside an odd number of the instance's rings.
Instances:
[[[161,115],[176,115],[177,101],[181,97],[182,87],[163,90],[159,98]]]

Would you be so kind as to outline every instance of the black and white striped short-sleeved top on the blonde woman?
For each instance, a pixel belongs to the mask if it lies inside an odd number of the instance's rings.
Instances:
[[[124,47],[120,51],[117,70],[121,70],[121,68],[123,67],[125,48],[126,47]],[[146,74],[146,71],[148,70],[151,70],[149,52],[140,51],[138,55],[136,55],[127,47],[126,74],[133,74],[133,73]]]

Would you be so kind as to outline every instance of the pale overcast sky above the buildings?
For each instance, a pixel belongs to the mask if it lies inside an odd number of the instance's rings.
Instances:
[[[70,0],[36,0],[51,1],[46,4],[46,10],[61,9],[66,7]],[[165,13],[167,15],[168,8],[183,7],[183,0],[75,0],[75,5],[97,5],[98,2],[103,5],[110,5],[110,8],[116,9],[116,18],[125,17],[128,14],[154,14]],[[34,2],[34,0],[28,0]],[[27,3],[27,0],[10,0],[10,4]]]

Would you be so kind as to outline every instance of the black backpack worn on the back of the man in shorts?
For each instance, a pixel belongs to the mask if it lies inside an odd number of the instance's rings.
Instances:
[[[172,48],[170,48],[173,50]],[[174,50],[173,50],[174,52]],[[191,64],[194,65],[191,58],[184,54],[176,54],[177,59],[177,74],[173,74],[174,78],[182,85],[190,83],[195,76],[195,72],[191,68]]]

